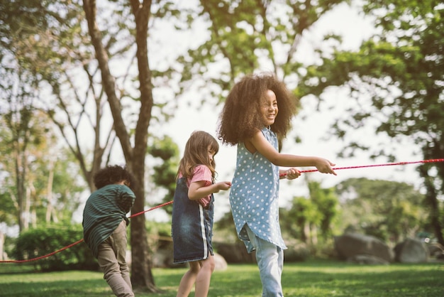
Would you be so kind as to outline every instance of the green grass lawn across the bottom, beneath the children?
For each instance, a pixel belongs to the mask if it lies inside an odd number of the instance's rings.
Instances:
[[[186,269],[152,269],[162,293],[140,296],[175,296]],[[285,264],[284,295],[289,296],[444,296],[444,263],[363,266],[338,261]],[[209,296],[260,296],[257,266],[229,265],[215,271]],[[0,296],[74,297],[113,296],[100,272],[33,272],[32,266],[0,264]],[[190,294],[194,296],[194,293]]]

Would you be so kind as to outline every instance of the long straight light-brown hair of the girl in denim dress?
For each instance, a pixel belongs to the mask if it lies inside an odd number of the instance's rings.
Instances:
[[[194,167],[197,165],[205,165],[210,168],[211,175],[216,175],[216,162],[214,158],[210,161],[208,156],[208,148],[214,151],[214,155],[219,151],[217,140],[205,131],[194,131],[185,145],[184,156],[179,163],[179,171],[177,175],[182,173],[185,178],[192,177]]]

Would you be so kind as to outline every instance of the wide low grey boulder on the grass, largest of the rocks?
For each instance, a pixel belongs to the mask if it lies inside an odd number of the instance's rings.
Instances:
[[[393,256],[387,244],[370,235],[347,233],[334,237],[335,251],[341,260],[353,259],[358,255],[375,257],[378,261],[390,263]]]

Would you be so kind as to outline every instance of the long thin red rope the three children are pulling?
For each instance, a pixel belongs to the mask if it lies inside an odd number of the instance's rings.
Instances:
[[[436,162],[444,162],[444,158],[431,159],[431,160],[421,160],[421,161],[411,161],[411,162],[397,162],[397,163],[383,163],[383,164],[362,165],[362,166],[336,167],[336,168],[333,168],[333,170],[368,168],[368,167],[381,167],[381,166],[395,166],[395,165],[406,165],[406,164],[416,164],[416,163],[436,163]],[[305,171],[299,171],[299,172],[301,172],[301,173],[309,173],[309,172],[315,172],[315,171],[318,171],[318,170],[317,169],[311,169],[311,170],[305,170]],[[287,173],[282,173],[279,176],[285,176],[285,175],[287,175]],[[164,207],[165,205],[169,205],[169,204],[172,204],[172,201],[162,203],[162,204],[157,205],[155,207],[151,207],[149,210],[143,210],[142,212],[138,212],[138,213],[136,213],[134,215],[131,215],[129,218],[136,217],[138,215],[142,215],[145,212],[149,212],[151,210],[155,210],[157,208]],[[53,254],[57,254],[59,252],[64,251],[65,249],[69,249],[70,247],[73,247],[74,245],[79,244],[80,242],[83,242],[83,241],[84,241],[84,239],[80,239],[77,242],[74,242],[74,243],[72,243],[70,245],[67,245],[66,247],[63,247],[62,249],[59,249],[59,250],[57,250],[55,252],[52,252],[50,254],[46,254],[44,256],[40,256],[40,257],[37,257],[37,258],[27,259],[27,260],[3,260],[3,261],[0,261],[0,263],[23,263],[23,262],[30,262],[30,261],[36,261],[36,260],[48,258],[48,257],[52,256]]]

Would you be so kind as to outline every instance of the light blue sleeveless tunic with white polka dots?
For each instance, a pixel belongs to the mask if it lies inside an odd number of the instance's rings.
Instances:
[[[277,136],[270,129],[262,129],[267,141],[277,149]],[[286,249],[279,226],[279,168],[260,153],[250,153],[243,143],[238,144],[237,162],[230,204],[240,239],[248,239],[243,229],[248,223],[257,236]],[[244,241],[245,242],[245,241]],[[250,251],[250,242],[245,242]]]

